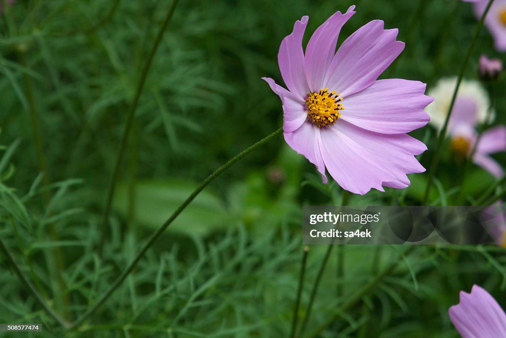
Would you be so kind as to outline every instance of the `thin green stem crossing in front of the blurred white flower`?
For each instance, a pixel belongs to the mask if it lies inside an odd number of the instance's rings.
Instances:
[[[441,132],[439,133],[439,140],[438,144],[436,146],[436,151],[434,153],[434,157],[432,159],[431,166],[429,168],[429,178],[427,181],[427,186],[425,189],[425,195],[423,202],[421,205],[427,204],[427,199],[429,198],[429,193],[432,187],[432,183],[434,180],[434,174],[436,173],[437,167],[439,165],[439,158],[441,156],[441,149],[443,147],[444,140],[446,138],[446,131],[448,130],[448,121],[450,120],[451,111],[453,110],[453,104],[455,103],[455,99],[457,97],[458,88],[460,87],[460,82],[462,82],[462,78],[464,77],[464,73],[466,72],[466,69],[468,67],[469,59],[471,57],[471,52],[473,51],[473,48],[476,44],[476,41],[478,40],[478,35],[480,34],[481,28],[483,27],[483,21],[485,21],[485,17],[487,16],[487,13],[490,9],[490,6],[492,6],[492,3],[494,0],[489,0],[487,7],[485,8],[485,11],[483,12],[483,15],[480,18],[480,21],[478,21],[478,24],[476,25],[476,29],[473,34],[473,38],[471,40],[471,43],[469,44],[468,50],[466,52],[466,56],[464,57],[464,62],[462,63],[462,66],[460,67],[460,72],[458,73],[458,79],[457,84],[455,86],[455,89],[453,90],[453,95],[451,97],[450,106],[448,107],[448,114],[446,114],[446,119],[443,124],[443,128],[441,129]]]

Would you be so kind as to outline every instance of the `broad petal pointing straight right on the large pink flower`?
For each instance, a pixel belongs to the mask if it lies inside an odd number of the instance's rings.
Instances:
[[[383,134],[401,134],[425,126],[430,118],[424,108],[433,101],[426,84],[388,79],[375,81],[343,101],[341,119]]]

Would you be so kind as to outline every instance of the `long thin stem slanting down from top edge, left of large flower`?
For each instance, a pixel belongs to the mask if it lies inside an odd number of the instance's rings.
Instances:
[[[111,181],[109,184],[109,189],[107,191],[107,199],[105,202],[105,210],[102,218],[102,234],[100,237],[100,244],[99,244],[99,252],[102,251],[102,248],[105,243],[105,236],[108,229],[108,220],[109,220],[109,214],[111,212],[111,205],[112,205],[112,199],[114,197],[114,190],[116,189],[116,182],[119,177],[119,168],[121,166],[121,162],[123,160],[123,155],[126,148],[126,143],[129,139],[130,130],[132,128],[132,121],[134,120],[134,114],[135,110],[137,109],[137,105],[139,104],[139,98],[141,97],[142,90],[144,88],[144,84],[146,83],[146,78],[148,76],[149,69],[151,68],[151,63],[153,61],[153,58],[156,54],[156,51],[158,50],[158,46],[160,45],[160,42],[162,40],[163,33],[165,32],[168,23],[171,21],[171,18],[174,14],[174,11],[176,10],[176,5],[178,4],[179,0],[172,0],[171,7],[168,9],[168,12],[165,16],[165,19],[163,20],[163,23],[160,27],[160,30],[158,31],[158,35],[156,36],[155,42],[153,43],[153,47],[151,48],[151,52],[149,53],[146,63],[144,64],[144,68],[141,72],[141,78],[139,80],[139,84],[137,86],[137,90],[134,96],[134,101],[132,102],[132,105],[130,106],[129,111],[126,114],[126,122],[123,130],[123,136],[121,137],[121,143],[119,144],[119,149],[116,157],[116,162],[114,164],[114,170],[112,173]]]

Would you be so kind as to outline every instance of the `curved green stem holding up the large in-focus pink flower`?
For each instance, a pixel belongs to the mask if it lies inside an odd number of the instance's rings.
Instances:
[[[146,251],[153,245],[153,243],[160,237],[160,235],[165,231],[165,229],[168,228],[168,226],[171,225],[171,223],[178,217],[178,215],[188,206],[188,204],[193,201],[193,199],[209,184],[212,182],[216,177],[218,177],[221,173],[223,173],[225,170],[227,170],[231,165],[233,165],[235,162],[242,159],[244,156],[248,155],[252,151],[254,151],[256,148],[261,146],[262,144],[266,143],[270,139],[280,135],[283,132],[283,128],[279,128],[274,133],[270,134],[269,136],[261,139],[257,143],[247,147],[244,151],[236,155],[234,158],[232,158],[230,161],[225,163],[223,166],[218,168],[215,172],[207,176],[206,179],[200,183],[199,186],[196,187],[196,189],[188,196],[188,198],[178,207],[176,211],[169,217],[161,226],[158,228],[158,230],[153,233],[147,240],[146,244],[141,248],[141,250],[137,253],[135,258],[130,262],[129,266],[118,276],[118,278],[112,283],[112,285],[107,289],[107,291],[98,299],[98,301],[88,310],[86,311],[81,317],[79,317],[75,322],[73,322],[69,329],[75,329],[77,328],[82,322],[84,322],[88,317],[90,317],[106,300],[109,298],[109,296],[117,289],[117,287],[123,282],[123,280],[128,276],[132,270],[136,267],[139,260],[144,256]]]

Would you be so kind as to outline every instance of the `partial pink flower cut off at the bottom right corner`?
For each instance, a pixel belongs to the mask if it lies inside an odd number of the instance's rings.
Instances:
[[[460,303],[448,310],[462,338],[506,337],[506,314],[494,297],[478,285],[471,293],[460,291]]]

